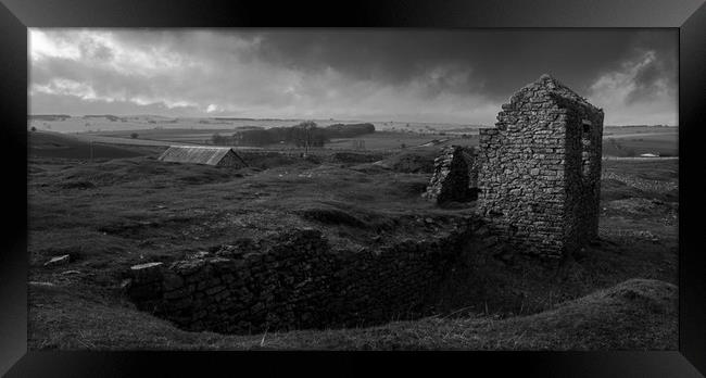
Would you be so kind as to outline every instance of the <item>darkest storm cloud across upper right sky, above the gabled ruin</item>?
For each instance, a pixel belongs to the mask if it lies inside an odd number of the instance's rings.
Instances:
[[[482,87],[484,93],[503,98],[544,72],[585,89],[597,71],[619,61],[636,43],[645,42],[634,32],[570,29],[313,29],[261,36],[259,53],[263,59],[298,70],[332,66],[358,79],[402,84],[434,66],[454,65],[474,72],[465,87],[467,92]],[[673,45],[673,34],[667,40]]]

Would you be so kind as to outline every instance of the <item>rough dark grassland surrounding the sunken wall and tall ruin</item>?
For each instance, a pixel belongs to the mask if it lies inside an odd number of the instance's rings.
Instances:
[[[72,148],[80,159],[85,144]],[[440,209],[420,198],[439,146],[400,153],[333,150],[307,160],[243,152],[251,167],[236,171],[161,163],[161,147],[115,148],[141,152],[108,160],[117,153],[110,150],[92,163],[30,154],[33,350],[677,348],[676,160],[604,161],[601,242],[551,277],[470,266],[444,284],[439,313],[429,318],[222,336],[186,332],[138,312],[121,294],[123,273],[134,264],[176,261],[235,238],[266,238],[292,227],[318,228],[333,245],[348,248],[437,236],[474,204]],[[305,216],[320,211],[357,222]],[[43,266],[60,254],[70,254],[71,262]]]

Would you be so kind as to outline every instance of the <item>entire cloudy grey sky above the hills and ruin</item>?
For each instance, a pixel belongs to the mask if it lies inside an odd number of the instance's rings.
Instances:
[[[29,29],[33,114],[492,125],[549,73],[605,124],[677,125],[672,30]]]

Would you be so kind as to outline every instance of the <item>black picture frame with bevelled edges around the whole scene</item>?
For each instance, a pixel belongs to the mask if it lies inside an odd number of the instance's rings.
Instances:
[[[704,0],[125,1],[2,0],[3,192],[0,373],[8,376],[362,375],[541,377],[706,374],[706,263],[699,144],[706,119]],[[679,29],[679,350],[673,352],[27,352],[27,27],[666,27]],[[374,366],[375,365],[375,366]],[[453,369],[453,370],[452,370]],[[702,374],[699,374],[701,371]],[[488,375],[481,374],[482,376]]]

